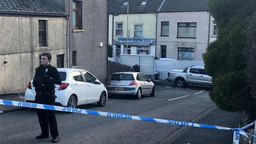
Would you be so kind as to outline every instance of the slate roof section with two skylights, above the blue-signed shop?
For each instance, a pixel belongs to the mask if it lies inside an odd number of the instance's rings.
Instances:
[[[142,1],[147,1],[146,6],[140,6]],[[122,7],[124,2],[129,2],[129,13],[155,13],[163,0],[109,0],[110,14],[126,14],[127,7]]]

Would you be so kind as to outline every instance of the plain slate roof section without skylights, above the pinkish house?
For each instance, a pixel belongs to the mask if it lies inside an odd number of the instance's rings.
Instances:
[[[160,12],[199,12],[207,11],[208,0],[166,0]]]

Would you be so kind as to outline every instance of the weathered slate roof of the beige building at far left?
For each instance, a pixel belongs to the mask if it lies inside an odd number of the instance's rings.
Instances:
[[[1,0],[0,12],[12,15],[66,15],[65,12],[45,0]]]

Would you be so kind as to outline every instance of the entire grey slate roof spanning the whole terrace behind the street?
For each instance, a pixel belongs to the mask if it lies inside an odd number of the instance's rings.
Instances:
[[[140,6],[142,1],[147,1],[146,6]],[[127,7],[122,7],[124,2],[129,2],[129,13],[156,13],[164,0],[109,0],[110,14],[126,14]],[[165,0],[159,12],[197,12],[207,11],[208,0]]]

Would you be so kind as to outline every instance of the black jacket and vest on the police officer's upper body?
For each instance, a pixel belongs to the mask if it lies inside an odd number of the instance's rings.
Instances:
[[[50,64],[48,66],[41,65],[36,68],[35,77],[33,79],[33,86],[36,92],[50,92],[54,90],[55,84],[61,85],[57,68]]]

